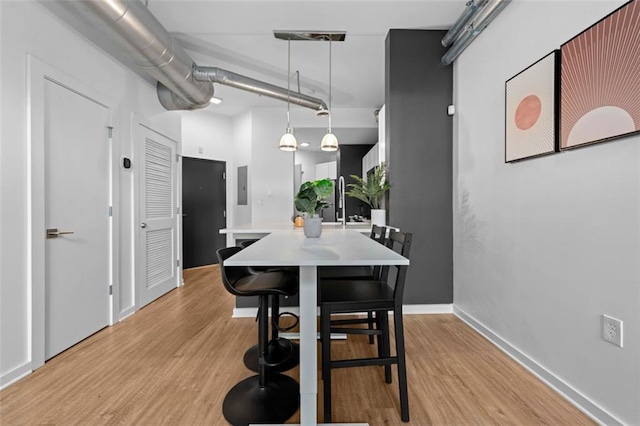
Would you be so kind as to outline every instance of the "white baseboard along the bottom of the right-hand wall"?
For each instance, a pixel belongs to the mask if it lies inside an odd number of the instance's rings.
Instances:
[[[533,375],[542,380],[547,386],[556,391],[560,396],[575,405],[580,411],[589,416],[594,421],[602,425],[624,425],[623,422],[615,418],[613,415],[605,411],[589,398],[582,395],[576,389],[574,389],[568,383],[562,381],[555,374],[538,364],[535,360],[531,359],[527,354],[520,351],[515,346],[498,336],[496,333],[485,327],[480,321],[476,320],[471,315],[467,314],[457,306],[453,306],[453,313],[462,321],[464,321],[469,327],[484,336],[487,340],[493,343],[498,349],[507,354],[518,364],[529,370]]]

